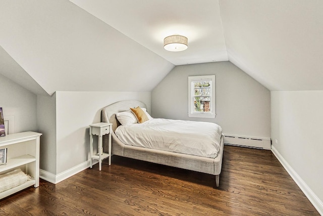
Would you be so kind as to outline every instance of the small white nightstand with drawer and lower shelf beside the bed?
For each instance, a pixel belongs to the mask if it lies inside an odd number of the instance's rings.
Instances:
[[[102,168],[102,160],[109,157],[109,165],[111,165],[111,133],[112,133],[112,124],[111,123],[95,123],[90,124],[90,151],[91,151],[91,161],[90,167],[92,168],[92,160],[99,161],[99,170]],[[103,152],[102,148],[102,136],[109,134],[109,152]],[[93,155],[93,135],[98,136],[97,140],[97,151],[98,153]]]

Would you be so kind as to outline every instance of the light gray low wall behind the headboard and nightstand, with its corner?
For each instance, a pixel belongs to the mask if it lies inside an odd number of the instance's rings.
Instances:
[[[81,171],[78,167],[90,159],[89,124],[100,122],[104,106],[122,100],[142,101],[150,110],[150,92],[56,92],[52,97],[38,96],[38,125],[44,134],[41,169],[59,180],[70,170]]]

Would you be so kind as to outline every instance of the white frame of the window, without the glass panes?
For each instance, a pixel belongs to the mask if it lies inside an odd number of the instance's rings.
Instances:
[[[194,112],[194,87],[193,82],[210,81],[210,112]],[[196,118],[215,118],[216,117],[216,75],[189,76],[188,77],[188,116]]]

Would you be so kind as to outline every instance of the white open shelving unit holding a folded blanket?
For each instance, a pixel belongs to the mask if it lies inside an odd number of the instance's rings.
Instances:
[[[21,168],[31,180],[15,188],[0,193],[0,199],[21,191],[30,186],[39,186],[39,144],[42,134],[23,132],[0,137],[0,149],[8,148],[7,164],[0,165],[0,175],[16,168]],[[1,182],[0,182],[1,185]]]

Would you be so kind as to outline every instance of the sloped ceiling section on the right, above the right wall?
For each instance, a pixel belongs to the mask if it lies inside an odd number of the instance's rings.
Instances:
[[[267,89],[323,90],[323,1],[220,1],[229,60]]]

